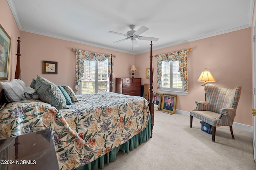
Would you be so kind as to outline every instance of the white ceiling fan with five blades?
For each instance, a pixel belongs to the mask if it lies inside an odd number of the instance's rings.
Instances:
[[[114,31],[109,31],[109,33],[114,33],[114,34],[123,35],[123,36],[127,37],[125,39],[121,39],[121,40],[116,41],[114,43],[119,43],[121,41],[131,39],[131,41],[132,41],[132,50],[133,50],[133,47],[138,47],[139,46],[136,39],[142,39],[142,40],[148,40],[148,41],[158,41],[158,38],[139,36],[140,34],[142,34],[142,33],[144,33],[145,31],[148,30],[147,27],[141,26],[137,31],[134,30],[135,25],[130,25],[129,27],[130,27],[131,30],[127,31],[126,34],[117,33],[117,32],[114,32]]]

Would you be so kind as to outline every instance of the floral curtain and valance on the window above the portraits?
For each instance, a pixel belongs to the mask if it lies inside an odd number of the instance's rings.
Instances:
[[[157,89],[161,88],[162,77],[162,61],[177,61],[179,60],[179,72],[184,86],[184,92],[188,92],[188,51],[192,49],[185,49],[181,51],[169,52],[155,55],[157,58]]]

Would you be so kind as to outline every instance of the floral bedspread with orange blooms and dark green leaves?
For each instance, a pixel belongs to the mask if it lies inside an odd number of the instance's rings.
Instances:
[[[148,102],[112,92],[78,95],[68,109],[40,100],[7,104],[0,113],[0,139],[52,128],[61,170],[83,166],[140,133],[150,116]]]

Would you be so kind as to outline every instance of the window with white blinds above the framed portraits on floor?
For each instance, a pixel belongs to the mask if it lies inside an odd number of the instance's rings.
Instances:
[[[162,61],[161,91],[183,92],[178,61]]]

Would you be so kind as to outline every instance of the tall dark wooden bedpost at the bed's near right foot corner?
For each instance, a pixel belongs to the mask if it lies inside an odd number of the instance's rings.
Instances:
[[[149,111],[151,114],[151,135],[150,137],[152,137],[152,131],[153,131],[153,125],[154,125],[154,104],[153,104],[153,67],[152,67],[152,41],[150,44],[150,76],[149,76],[149,82],[150,82],[150,86],[149,86]]]

